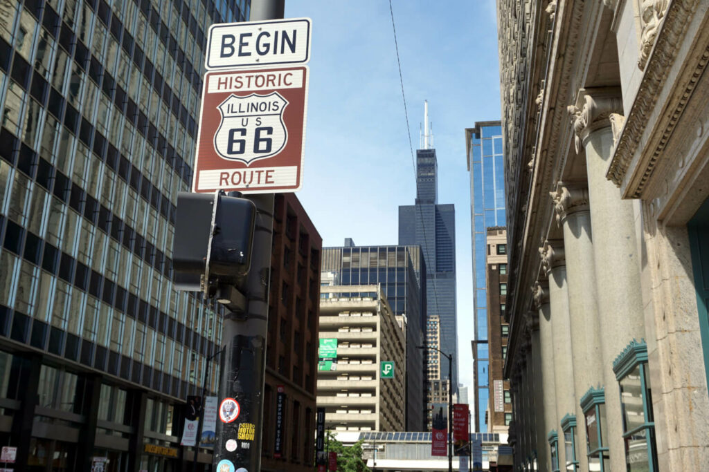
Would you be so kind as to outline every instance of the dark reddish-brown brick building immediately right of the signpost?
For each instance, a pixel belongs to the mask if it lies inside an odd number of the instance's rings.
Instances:
[[[292,193],[277,194],[269,304],[261,470],[311,471],[315,451],[320,250],[323,239]],[[285,408],[274,457],[278,387]]]

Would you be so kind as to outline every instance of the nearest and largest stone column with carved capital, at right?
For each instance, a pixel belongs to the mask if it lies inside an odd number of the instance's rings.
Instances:
[[[636,202],[622,200],[620,189],[605,178],[613,156],[609,118],[622,110],[617,93],[617,89],[582,90],[581,121],[579,115],[575,115],[574,120],[576,139],[581,140],[586,151],[608,438],[623,435],[623,413],[613,360],[632,339],[644,337],[640,254],[633,211]],[[613,470],[625,469],[623,442],[610,440],[608,446]]]

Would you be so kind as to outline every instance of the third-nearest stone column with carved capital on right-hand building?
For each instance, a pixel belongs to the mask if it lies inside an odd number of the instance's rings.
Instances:
[[[566,413],[574,411],[576,390],[574,364],[571,354],[571,319],[569,318],[569,287],[566,284],[566,261],[562,241],[545,241],[540,248],[542,270],[549,278],[549,309],[552,320],[552,345],[554,345],[554,393],[557,399],[554,430],[559,430],[559,421]],[[548,431],[547,431],[548,433]],[[559,464],[566,464],[564,448],[559,447]]]

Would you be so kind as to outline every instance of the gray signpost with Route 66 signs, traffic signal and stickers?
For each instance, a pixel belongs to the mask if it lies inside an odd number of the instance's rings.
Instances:
[[[250,22],[210,28],[206,65],[211,70],[205,76],[192,184],[202,195],[181,194],[177,208],[178,221],[186,221],[185,234],[175,235],[176,252],[179,246],[185,255],[182,270],[176,266],[178,284],[216,297],[227,309],[213,454],[218,471],[261,470],[273,192],[294,192],[302,185],[311,22],[282,20],[283,12],[284,0],[254,0]],[[261,115],[246,116],[247,109]],[[219,245],[215,241],[228,239],[224,227],[234,224],[220,209],[240,207],[239,199],[250,200],[255,209],[249,244]],[[201,209],[208,205],[211,215],[204,215]],[[208,238],[189,227],[210,216]],[[199,257],[188,251],[195,243]],[[247,272],[223,277],[234,258]]]

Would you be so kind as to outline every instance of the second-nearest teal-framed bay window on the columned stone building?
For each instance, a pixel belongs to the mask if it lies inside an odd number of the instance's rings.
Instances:
[[[586,449],[589,471],[610,471],[608,439],[605,437],[605,393],[603,388],[589,388],[581,397],[586,421]]]

